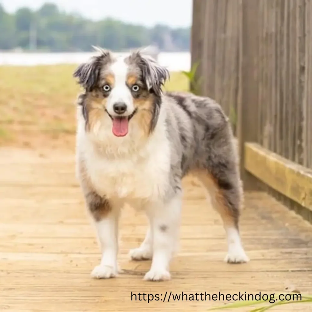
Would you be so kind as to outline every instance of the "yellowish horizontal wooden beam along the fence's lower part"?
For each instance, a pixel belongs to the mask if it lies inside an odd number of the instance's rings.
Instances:
[[[312,211],[312,170],[259,144],[245,143],[245,169],[271,188]]]

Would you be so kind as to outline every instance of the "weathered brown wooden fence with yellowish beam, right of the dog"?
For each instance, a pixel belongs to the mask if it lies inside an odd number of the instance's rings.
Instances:
[[[193,0],[193,90],[230,116],[246,189],[312,221],[312,0]]]

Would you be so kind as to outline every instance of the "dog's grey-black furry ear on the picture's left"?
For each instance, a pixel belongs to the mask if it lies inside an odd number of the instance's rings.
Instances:
[[[86,91],[94,90],[100,78],[101,68],[110,61],[111,57],[110,51],[98,47],[93,48],[100,52],[100,55],[93,56],[89,62],[80,64],[73,73]]]

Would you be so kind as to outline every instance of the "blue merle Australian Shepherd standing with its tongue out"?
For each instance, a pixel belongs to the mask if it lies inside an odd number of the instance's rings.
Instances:
[[[119,273],[118,221],[129,204],[149,228],[133,260],[152,260],[144,280],[170,280],[178,249],[182,179],[195,175],[219,212],[225,261],[249,261],[239,234],[243,200],[238,153],[229,119],[208,97],[164,92],[167,68],[140,50],[98,54],[73,73],[77,98],[76,175],[101,248],[93,278]]]

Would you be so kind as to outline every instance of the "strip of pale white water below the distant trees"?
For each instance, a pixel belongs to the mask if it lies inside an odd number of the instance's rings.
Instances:
[[[126,53],[116,53],[126,55]],[[27,52],[0,52],[0,65],[54,65],[78,64],[87,61],[94,53],[27,53]],[[189,52],[160,52],[158,62],[166,66],[169,71],[189,71],[191,68],[191,54]]]

